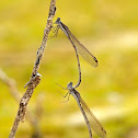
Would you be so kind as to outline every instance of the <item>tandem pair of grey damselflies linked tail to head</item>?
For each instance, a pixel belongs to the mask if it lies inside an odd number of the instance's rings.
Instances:
[[[95,134],[97,134],[101,138],[106,138],[106,131],[104,130],[103,126],[93,115],[93,113],[90,111],[90,108],[88,107],[85,102],[81,99],[80,93],[76,90],[76,88],[78,88],[81,83],[81,69],[80,69],[80,61],[79,61],[78,53],[83,57],[83,59],[88,64],[90,64],[93,67],[97,67],[97,59],[74,37],[74,35],[70,32],[69,27],[66,26],[60,21],[60,18],[58,18],[55,23],[57,24],[57,26],[55,27],[55,33],[56,33],[55,36],[57,36],[59,28],[66,34],[67,38],[70,41],[70,43],[72,44],[72,46],[74,48],[77,60],[78,60],[79,81],[74,87],[72,87],[72,82],[70,82],[67,85],[66,90],[68,90],[68,93],[66,94],[66,96],[68,94],[69,95],[71,94],[76,99],[76,101],[80,107],[80,111],[84,117],[85,124],[88,126],[90,138],[92,138],[92,130],[94,130]]]

